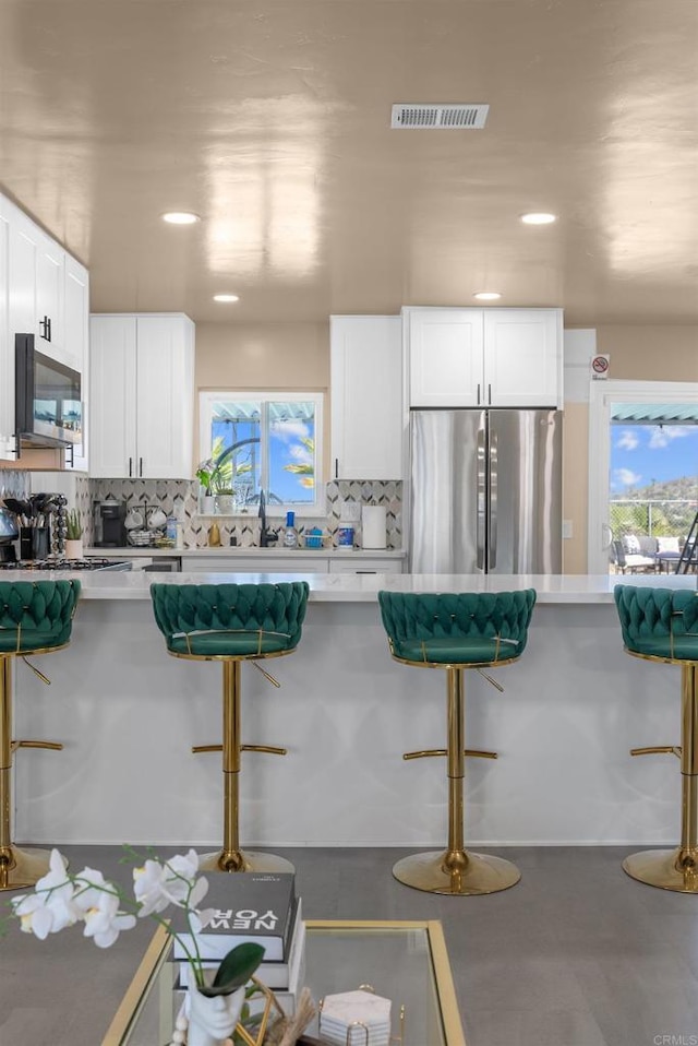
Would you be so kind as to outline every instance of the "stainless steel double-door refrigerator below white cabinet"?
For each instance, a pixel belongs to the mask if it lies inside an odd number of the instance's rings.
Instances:
[[[412,573],[562,571],[559,411],[412,411]]]

